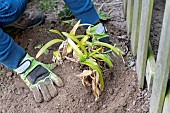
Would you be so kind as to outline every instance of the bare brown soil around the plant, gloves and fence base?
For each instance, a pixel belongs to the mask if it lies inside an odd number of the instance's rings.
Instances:
[[[110,20],[105,22],[110,38],[126,50],[125,65],[116,63],[113,68],[104,70],[105,90],[95,101],[91,88],[85,88],[75,75],[81,72],[80,65],[64,61],[53,72],[62,78],[64,87],[58,88],[58,96],[50,102],[36,103],[24,82],[12,70],[0,65],[0,113],[149,113],[150,93],[139,89],[135,73],[135,63],[129,51],[129,38],[126,36],[126,22],[120,0],[95,0],[98,9],[111,11]],[[118,3],[117,5],[109,5]],[[31,4],[34,4],[33,2]],[[61,8],[62,4],[59,4]],[[34,7],[34,6],[32,6]],[[32,29],[9,33],[31,56],[36,55],[40,44],[45,44],[58,36],[48,32],[54,28],[69,31],[71,27],[62,24],[54,14],[48,13],[45,24]],[[125,38],[120,38],[125,37]],[[58,47],[50,47],[47,55],[38,60],[52,63],[52,52]]]

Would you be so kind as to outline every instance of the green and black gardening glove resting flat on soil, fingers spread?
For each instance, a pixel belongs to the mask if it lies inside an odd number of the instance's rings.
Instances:
[[[55,85],[63,86],[60,77],[51,72],[45,64],[36,61],[28,54],[14,71],[20,75],[33,92],[36,102],[50,101],[52,97],[57,95]]]

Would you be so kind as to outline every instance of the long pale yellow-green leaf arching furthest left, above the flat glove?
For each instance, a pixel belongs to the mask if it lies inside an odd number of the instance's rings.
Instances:
[[[53,39],[51,41],[49,41],[47,44],[45,44],[37,53],[36,58],[38,58],[40,55],[42,55],[44,53],[44,51],[49,48],[50,46],[52,46],[53,44],[57,43],[57,42],[63,42],[63,40],[61,39]]]

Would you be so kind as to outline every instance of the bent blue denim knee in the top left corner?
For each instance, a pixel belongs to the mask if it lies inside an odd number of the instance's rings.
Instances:
[[[27,0],[0,1],[0,26],[15,22],[24,12]]]

